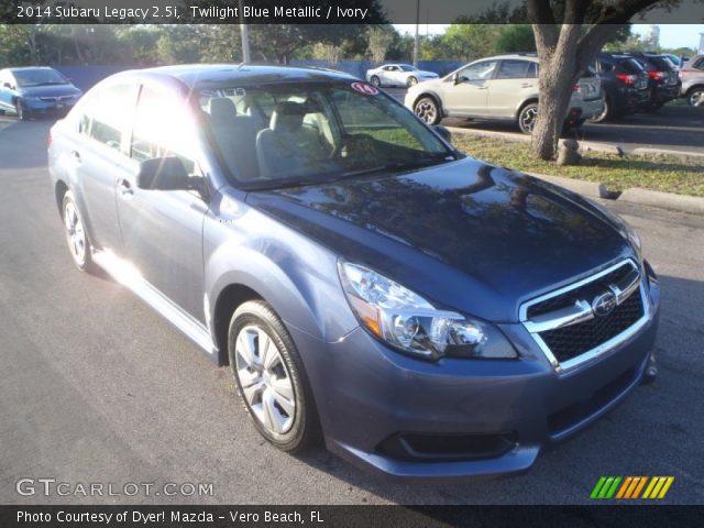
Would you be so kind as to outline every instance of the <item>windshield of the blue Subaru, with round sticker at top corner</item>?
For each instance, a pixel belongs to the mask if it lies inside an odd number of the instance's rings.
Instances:
[[[276,188],[399,172],[455,158],[411,112],[365,82],[200,90],[230,173]]]

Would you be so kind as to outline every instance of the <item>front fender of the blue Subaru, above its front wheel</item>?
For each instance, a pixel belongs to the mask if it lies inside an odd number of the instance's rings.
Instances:
[[[240,285],[317,339],[337,341],[358,327],[329,249],[227,196],[215,200],[204,230],[209,320],[224,289]]]

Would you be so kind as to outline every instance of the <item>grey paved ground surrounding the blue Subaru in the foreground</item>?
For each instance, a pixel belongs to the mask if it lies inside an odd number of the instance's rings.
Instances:
[[[248,422],[227,369],[110,279],[77,272],[46,173],[50,123],[0,118],[0,503],[586,503],[601,475],[673,475],[704,502],[704,218],[609,204],[661,275],[660,377],[520,477],[397,485]],[[0,125],[1,128],[1,125]],[[22,497],[22,477],[212,483],[206,497]]]

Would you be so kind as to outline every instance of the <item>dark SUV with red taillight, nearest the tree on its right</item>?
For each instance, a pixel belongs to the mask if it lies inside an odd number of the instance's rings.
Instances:
[[[648,74],[632,57],[601,53],[592,68],[602,80],[604,111],[590,119],[601,123],[638,111],[649,99]]]

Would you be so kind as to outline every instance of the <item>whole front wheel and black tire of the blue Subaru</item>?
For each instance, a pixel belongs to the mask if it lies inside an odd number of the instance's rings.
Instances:
[[[238,393],[260,435],[290,453],[320,441],[316,405],[300,355],[267,302],[251,300],[235,310],[228,353]]]

